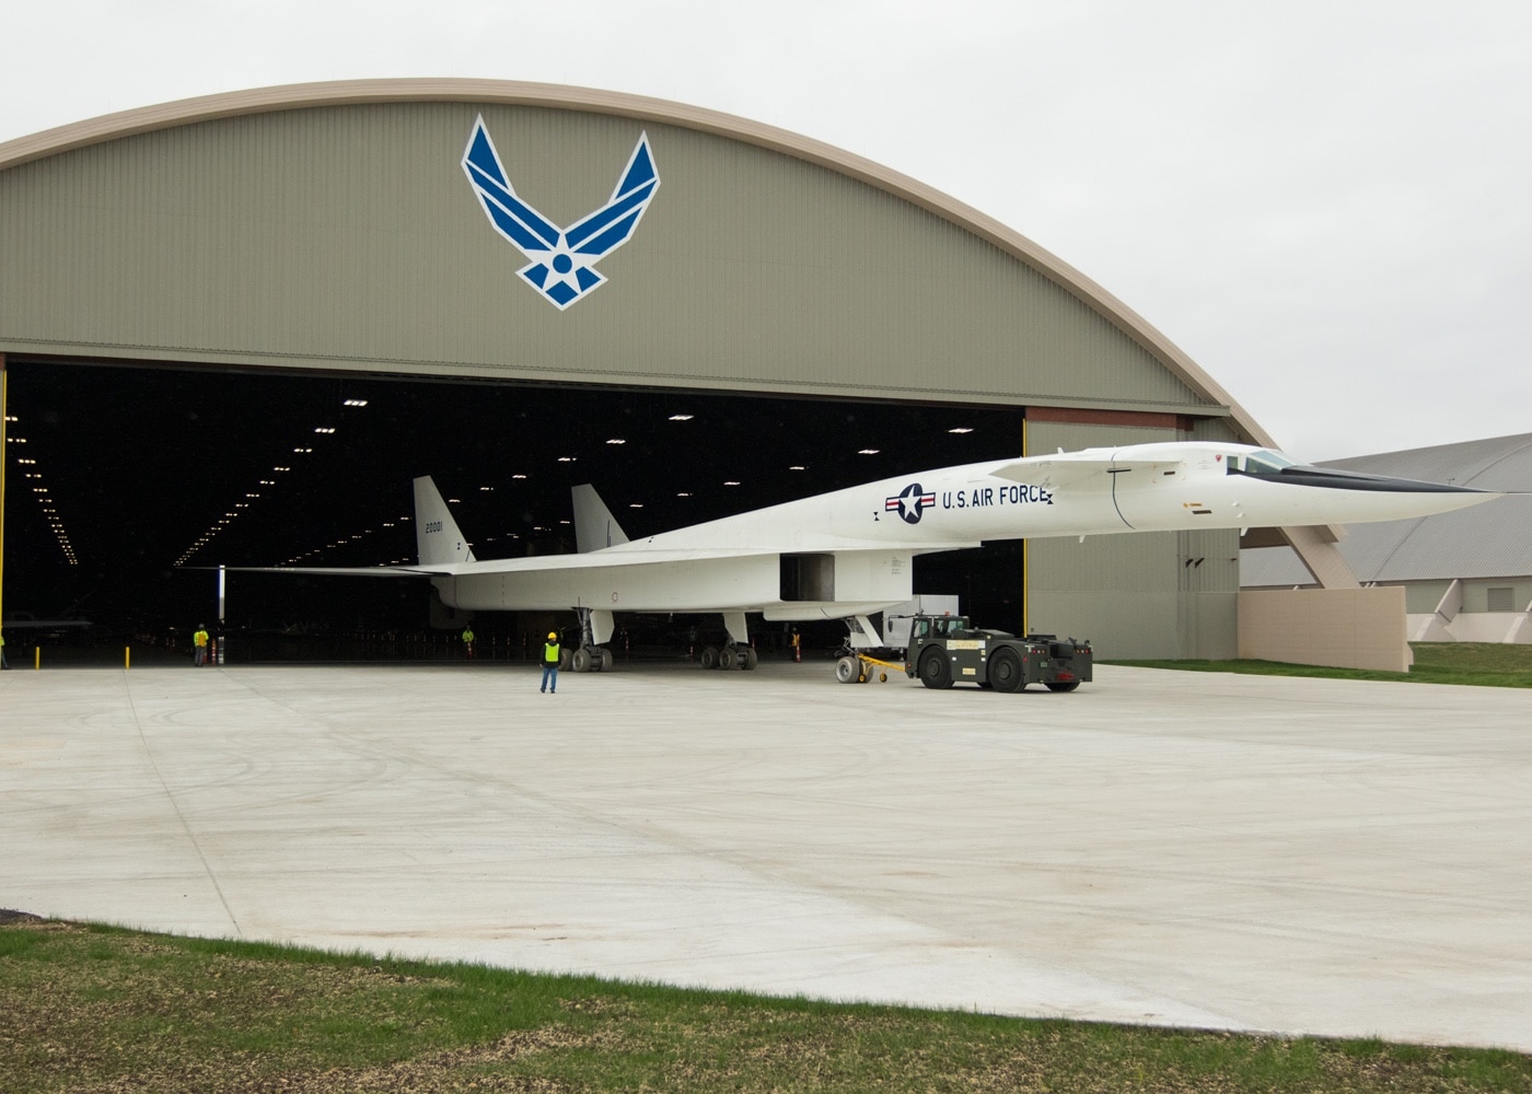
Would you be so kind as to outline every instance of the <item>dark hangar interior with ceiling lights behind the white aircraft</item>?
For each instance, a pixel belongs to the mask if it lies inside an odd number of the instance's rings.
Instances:
[[[55,636],[70,648],[173,644],[211,624],[207,567],[412,562],[418,475],[435,478],[478,558],[509,558],[574,550],[579,483],[640,536],[1022,450],[1017,408],[28,357],[6,372],[5,610],[90,621]],[[1019,628],[1019,553],[919,558],[916,591],[958,593],[987,625]],[[424,579],[230,573],[225,627],[346,656],[354,636],[426,630],[429,598]],[[660,644],[712,625],[627,622]],[[521,622],[480,613],[475,627],[509,637]],[[818,644],[843,631],[801,630]]]

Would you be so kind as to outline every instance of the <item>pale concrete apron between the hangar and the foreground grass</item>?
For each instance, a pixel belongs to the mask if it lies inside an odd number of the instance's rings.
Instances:
[[[1532,691],[506,665],[0,676],[0,907],[1532,1051]]]

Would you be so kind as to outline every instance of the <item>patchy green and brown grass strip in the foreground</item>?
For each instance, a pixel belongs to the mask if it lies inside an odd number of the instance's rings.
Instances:
[[[0,913],[0,1088],[1527,1091],[1509,1051],[1238,1036],[377,961]]]

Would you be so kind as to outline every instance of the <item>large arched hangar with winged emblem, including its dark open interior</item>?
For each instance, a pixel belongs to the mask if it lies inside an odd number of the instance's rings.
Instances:
[[[486,215],[486,142],[568,245],[539,256],[525,221]],[[1273,443],[1143,317],[984,213],[631,95],[348,81],[97,118],[0,144],[0,239],[8,610],[47,611],[38,590],[78,568],[113,584],[109,556],[139,561],[116,578],[136,588],[391,561],[417,473],[470,536],[529,553],[564,549],[578,481],[643,532],[1019,452]],[[1354,587],[1334,538],[1246,542]],[[916,588],[1118,657],[1233,656],[1239,545],[1043,539],[921,559]]]

